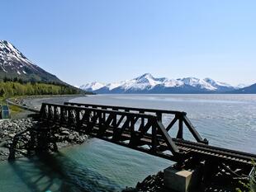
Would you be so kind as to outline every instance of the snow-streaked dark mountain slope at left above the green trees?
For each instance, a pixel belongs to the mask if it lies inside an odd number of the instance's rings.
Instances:
[[[0,79],[21,78],[25,81],[60,82],[55,75],[32,63],[7,40],[0,40]]]

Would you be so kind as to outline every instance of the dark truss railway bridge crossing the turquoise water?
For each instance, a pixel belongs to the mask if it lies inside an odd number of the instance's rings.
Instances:
[[[254,167],[252,160],[256,160],[251,153],[209,145],[181,111],[65,102],[64,105],[43,103],[39,117],[48,133],[54,134],[59,127],[75,129],[181,166],[208,164],[211,171],[225,170],[233,178],[249,176]],[[191,133],[192,140],[184,139],[185,131]]]

